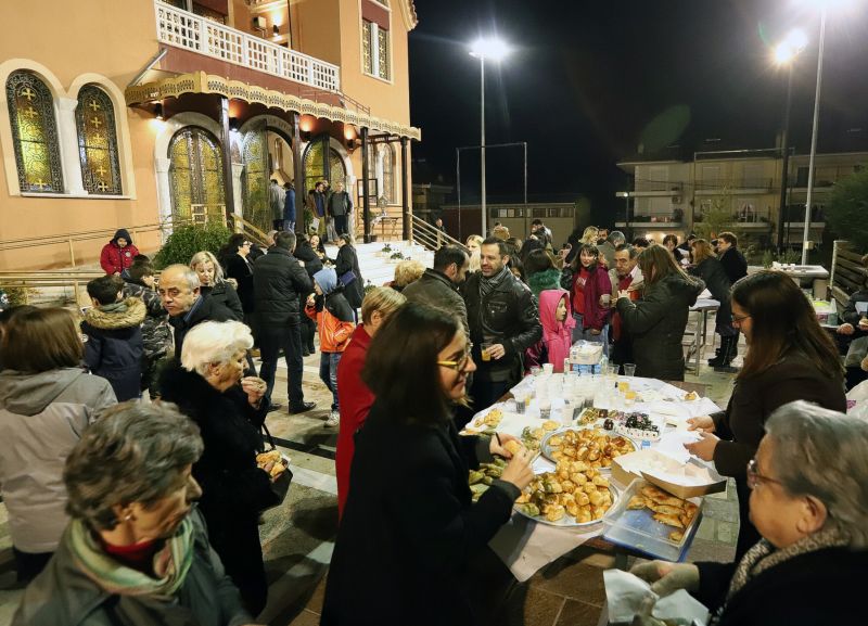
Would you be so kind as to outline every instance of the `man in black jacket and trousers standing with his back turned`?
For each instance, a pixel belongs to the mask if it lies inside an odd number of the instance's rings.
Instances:
[[[282,349],[289,376],[290,412],[301,413],[317,406],[316,403],[306,403],[302,392],[304,363],[299,299],[306,299],[314,285],[305,268],[292,255],[294,250],[294,233],[276,235],[275,247],[256,259],[253,267],[253,293],[263,355],[259,375],[268,384],[266,393],[271,397],[278,352]]]

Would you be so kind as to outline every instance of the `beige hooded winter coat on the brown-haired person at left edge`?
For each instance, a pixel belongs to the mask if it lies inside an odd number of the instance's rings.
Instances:
[[[58,547],[67,522],[66,457],[116,401],[108,381],[80,368],[0,372],[0,485],[15,548],[39,553]]]

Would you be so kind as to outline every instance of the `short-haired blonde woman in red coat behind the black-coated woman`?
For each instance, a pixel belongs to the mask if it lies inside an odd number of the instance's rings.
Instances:
[[[373,394],[361,380],[361,368],[371,337],[380,325],[400,307],[407,298],[387,286],[378,286],[365,296],[361,303],[361,321],[349,343],[344,356],[337,365],[337,405],[341,407],[341,427],[337,431],[337,453],[334,458],[337,474],[337,513],[344,511],[346,496],[349,493],[349,467],[355,452],[354,436],[365,423],[368,411],[373,405]]]

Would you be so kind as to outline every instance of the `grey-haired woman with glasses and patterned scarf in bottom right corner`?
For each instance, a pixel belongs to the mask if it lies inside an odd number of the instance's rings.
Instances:
[[[739,563],[654,561],[633,573],[659,596],[691,591],[716,626],[864,624],[868,422],[800,400],[765,426],[748,464],[760,542]]]

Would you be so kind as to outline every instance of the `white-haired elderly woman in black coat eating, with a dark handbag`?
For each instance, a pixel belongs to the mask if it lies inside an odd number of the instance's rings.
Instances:
[[[241,322],[203,322],[187,334],[181,361],[163,372],[161,389],[202,432],[205,449],[193,464],[202,513],[227,574],[256,615],[268,597],[259,513],[278,502],[269,472],[256,464],[269,400],[265,381],[242,378],[252,345]]]

